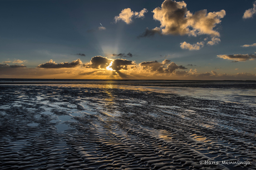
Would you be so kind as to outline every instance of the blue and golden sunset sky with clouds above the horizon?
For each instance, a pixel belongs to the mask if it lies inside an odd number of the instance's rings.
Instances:
[[[0,1],[0,78],[256,80],[256,1]]]

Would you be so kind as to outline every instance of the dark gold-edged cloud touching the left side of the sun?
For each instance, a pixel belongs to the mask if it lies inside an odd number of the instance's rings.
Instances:
[[[111,59],[107,59],[104,56],[93,56],[90,63],[83,64],[85,68],[92,69],[106,69],[107,66],[111,63]]]

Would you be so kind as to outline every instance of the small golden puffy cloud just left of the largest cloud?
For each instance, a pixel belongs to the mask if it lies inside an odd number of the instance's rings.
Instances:
[[[140,12],[133,12],[131,8],[122,9],[119,16],[115,16],[115,23],[119,20],[123,20],[126,24],[130,24],[132,22],[132,17],[135,18],[144,18],[144,14],[147,13],[147,9],[142,9]]]

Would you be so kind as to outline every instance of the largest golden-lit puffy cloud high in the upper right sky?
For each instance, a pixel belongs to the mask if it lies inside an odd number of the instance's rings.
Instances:
[[[152,12],[154,19],[161,23],[158,28],[161,30],[161,34],[192,35],[194,37],[202,34],[220,37],[219,32],[213,28],[221,22],[220,19],[226,14],[224,10],[207,13],[206,9],[193,14],[188,11],[184,1],[172,0],[165,0],[161,4],[161,8],[157,7]],[[156,28],[154,29],[156,30]]]

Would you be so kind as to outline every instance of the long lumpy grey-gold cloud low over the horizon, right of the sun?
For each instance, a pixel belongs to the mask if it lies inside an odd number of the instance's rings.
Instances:
[[[176,65],[174,62],[165,59],[162,63],[157,61],[144,61],[140,63],[140,66],[143,70],[150,70],[151,72],[155,73],[173,73],[176,69],[186,69],[184,66]]]

